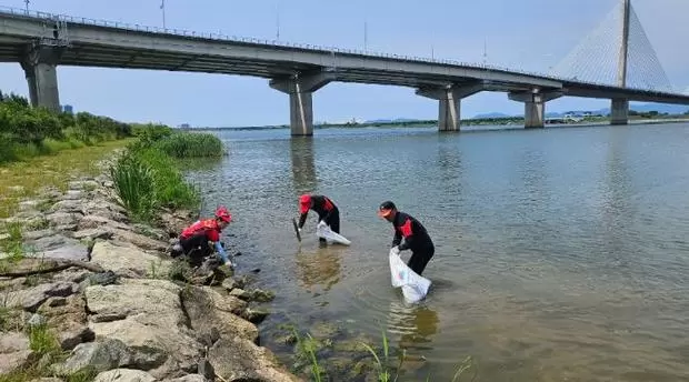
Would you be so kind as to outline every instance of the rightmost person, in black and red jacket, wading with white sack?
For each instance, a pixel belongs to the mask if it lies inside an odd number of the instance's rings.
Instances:
[[[436,253],[436,247],[428,235],[426,228],[413,217],[398,211],[395,203],[386,201],[378,208],[378,215],[392,223],[395,238],[392,239],[392,250],[399,254],[400,251],[411,250],[411,258],[407,265],[417,274],[421,275],[429,260]],[[402,242],[402,238],[405,242]]]

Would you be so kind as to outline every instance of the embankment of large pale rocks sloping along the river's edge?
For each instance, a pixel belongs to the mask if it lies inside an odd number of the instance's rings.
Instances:
[[[67,192],[46,190],[21,202],[0,223],[1,374],[300,381],[258,345],[256,323],[267,313],[251,305],[270,293],[222,272],[174,280],[186,271],[167,254],[168,241],[190,214],[168,211],[162,228],[151,228],[132,223],[116,200],[108,177],[80,179]],[[13,240],[22,245],[11,247]],[[59,349],[48,352],[46,338]]]

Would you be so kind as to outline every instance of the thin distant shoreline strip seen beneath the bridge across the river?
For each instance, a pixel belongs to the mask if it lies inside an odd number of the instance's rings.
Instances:
[[[553,118],[550,119],[552,121],[557,121],[556,123],[548,123],[546,121],[546,127],[582,127],[582,125],[597,125],[605,124],[606,122],[610,122],[610,118],[608,117],[586,117],[580,121],[563,121],[562,118]],[[689,122],[689,114],[677,114],[677,115],[630,115],[629,123],[630,124],[639,124],[639,123],[679,123],[679,122]],[[478,118],[478,119],[466,119],[461,120],[461,127],[519,127],[523,125],[523,117],[508,117],[508,118]],[[403,122],[369,122],[369,123],[328,123],[328,124],[316,124],[313,125],[313,130],[323,130],[323,129],[362,129],[362,128],[435,128],[438,125],[438,120],[418,120],[418,121],[403,121]],[[183,131],[244,131],[244,130],[283,130],[289,129],[289,125],[258,125],[258,127],[240,127],[240,128],[179,128],[179,130]]]

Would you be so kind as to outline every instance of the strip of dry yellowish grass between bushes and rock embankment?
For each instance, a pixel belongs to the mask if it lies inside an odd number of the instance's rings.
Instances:
[[[66,190],[73,178],[98,174],[96,162],[133,140],[109,141],[0,165],[0,218],[11,217],[22,199],[36,195],[41,188],[54,185]]]

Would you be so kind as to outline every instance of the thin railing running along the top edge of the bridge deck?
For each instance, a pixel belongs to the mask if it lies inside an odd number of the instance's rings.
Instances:
[[[503,71],[503,72],[510,72],[510,73],[517,73],[517,74],[525,74],[525,76],[538,77],[538,78],[543,78],[543,79],[550,79],[555,81],[571,81],[571,82],[578,82],[581,84],[591,84],[591,86],[601,86],[601,87],[613,86],[611,83],[580,80],[580,79],[577,79],[576,77],[565,78],[565,77],[555,76],[552,73],[535,72],[535,71],[523,70],[523,69],[515,69],[515,68],[491,64],[491,63],[476,63],[476,62],[466,62],[466,61],[457,61],[457,60],[449,60],[449,59],[436,59],[436,58],[428,58],[428,57],[423,58],[423,57],[417,57],[417,56],[386,53],[386,52],[377,52],[377,51],[369,51],[369,50],[347,49],[347,48],[337,48],[337,47],[322,47],[322,46],[310,44],[310,43],[290,42],[290,41],[284,41],[284,40],[258,39],[253,37],[238,37],[233,34],[224,34],[224,33],[197,32],[197,31],[189,31],[189,30],[176,29],[176,28],[160,28],[160,27],[141,26],[137,23],[129,23],[129,22],[122,22],[122,21],[109,21],[109,20],[74,17],[74,16],[69,16],[69,14],[32,11],[32,10],[6,7],[6,6],[0,6],[0,13],[10,13],[10,14],[16,14],[16,16],[39,18],[39,19],[46,19],[46,20],[51,20],[51,21],[67,21],[71,23],[80,23],[80,24],[96,26],[96,27],[118,28],[118,29],[126,29],[126,30],[131,30],[131,31],[137,31],[137,32],[163,33],[163,34],[188,37],[188,38],[208,39],[208,40],[243,42],[243,43],[261,44],[261,46],[270,46],[270,47],[296,48],[296,49],[311,50],[311,51],[319,51],[319,52],[330,52],[332,54],[336,54],[336,53],[356,54],[356,56],[363,56],[363,57],[402,60],[402,61],[408,61],[408,62],[427,62],[427,63],[436,63],[436,64],[457,66],[457,67],[465,67],[465,68],[472,68],[472,69],[483,69],[483,70]],[[669,92],[665,92],[660,90],[645,89],[645,88],[627,88],[627,89],[641,90],[641,91],[647,91],[647,92],[652,92],[652,93],[681,94],[679,92],[669,93]]]

